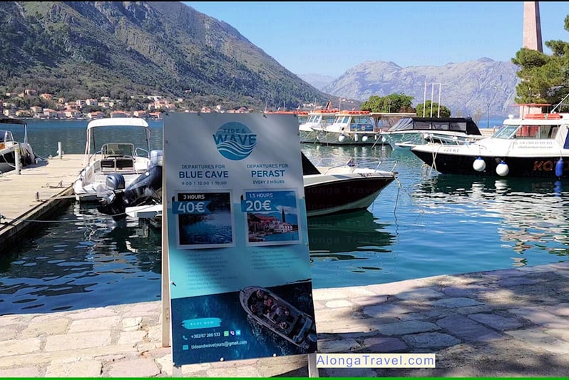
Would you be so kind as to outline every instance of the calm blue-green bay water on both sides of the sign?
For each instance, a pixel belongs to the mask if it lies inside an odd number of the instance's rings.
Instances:
[[[160,148],[161,123],[152,127]],[[85,121],[31,121],[29,140],[43,157],[56,155],[58,141],[66,153],[83,153],[85,128]],[[316,288],[569,259],[567,180],[443,176],[408,150],[386,146],[302,151],[314,161],[396,160],[399,172],[369,210],[309,219]],[[0,257],[0,315],[158,300],[160,265],[160,232],[135,220],[118,225],[74,203]]]

